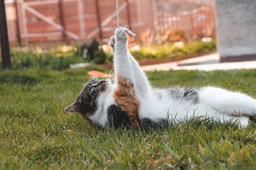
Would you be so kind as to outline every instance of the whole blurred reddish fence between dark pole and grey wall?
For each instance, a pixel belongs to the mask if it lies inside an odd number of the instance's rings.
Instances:
[[[5,5],[12,45],[108,42],[117,25],[115,0],[8,0]],[[183,39],[157,42],[215,37],[214,0],[119,0],[119,8],[120,25],[141,41],[156,43],[147,38],[171,31],[182,33]]]

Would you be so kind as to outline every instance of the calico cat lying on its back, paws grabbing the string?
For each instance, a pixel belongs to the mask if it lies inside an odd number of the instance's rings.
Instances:
[[[216,87],[152,88],[137,61],[128,52],[126,28],[111,37],[115,84],[91,79],[76,101],[64,109],[80,112],[92,124],[108,126],[162,126],[172,120],[212,118],[247,126],[248,116],[256,114],[256,100],[240,92]]]

